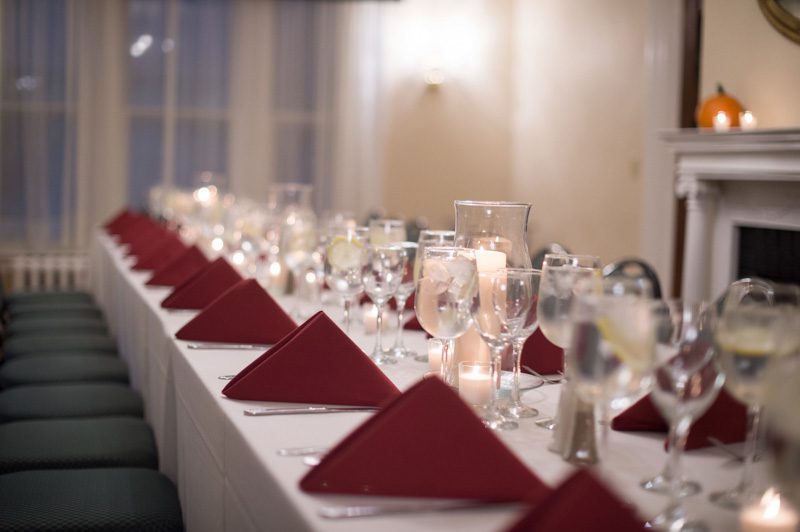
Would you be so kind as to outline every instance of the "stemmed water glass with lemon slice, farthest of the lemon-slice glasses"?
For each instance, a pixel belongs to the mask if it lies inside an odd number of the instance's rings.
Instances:
[[[344,330],[350,333],[350,309],[364,291],[362,269],[367,260],[367,228],[335,233],[325,252],[325,281],[342,302]]]

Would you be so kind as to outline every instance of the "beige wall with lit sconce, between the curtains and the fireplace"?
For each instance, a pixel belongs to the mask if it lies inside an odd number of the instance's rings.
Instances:
[[[638,253],[646,4],[407,0],[386,11],[390,212],[445,227],[455,199],[529,201],[532,251],[558,241],[607,262]],[[445,64],[433,90],[410,58],[426,54],[425,24],[470,36],[469,60]]]

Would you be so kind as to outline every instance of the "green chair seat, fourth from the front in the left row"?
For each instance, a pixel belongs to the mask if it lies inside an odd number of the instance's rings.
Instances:
[[[68,382],[127,384],[128,368],[117,357],[78,354],[21,357],[0,365],[0,387]]]

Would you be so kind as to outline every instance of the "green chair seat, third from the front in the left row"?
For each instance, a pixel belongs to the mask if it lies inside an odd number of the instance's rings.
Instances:
[[[15,386],[0,392],[0,423],[23,419],[142,417],[141,396],[124,384]]]

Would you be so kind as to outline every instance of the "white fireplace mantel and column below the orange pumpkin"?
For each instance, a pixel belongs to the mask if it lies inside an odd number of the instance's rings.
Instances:
[[[675,193],[686,198],[681,294],[713,298],[735,280],[739,227],[800,231],[800,129],[663,138],[674,154]]]

